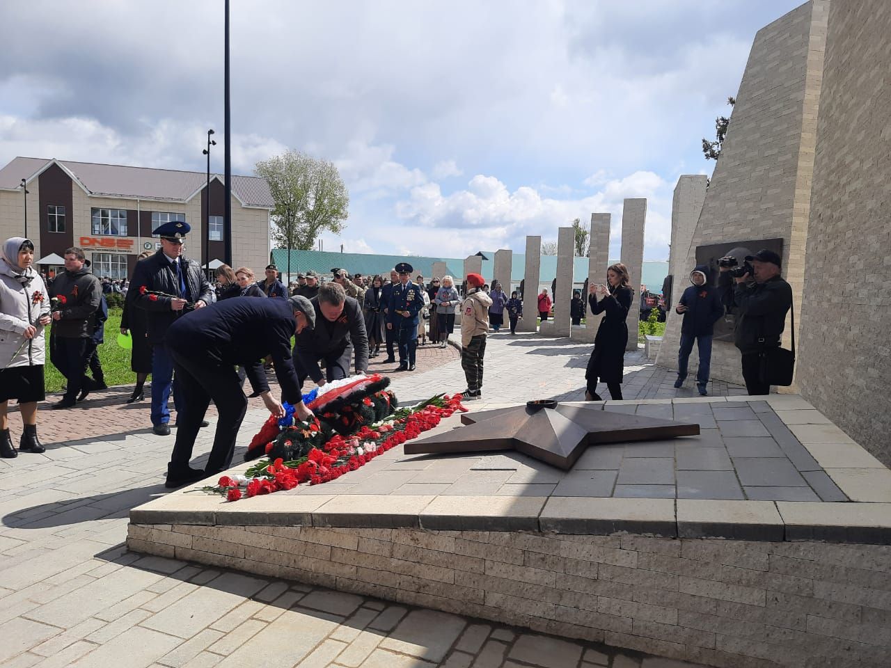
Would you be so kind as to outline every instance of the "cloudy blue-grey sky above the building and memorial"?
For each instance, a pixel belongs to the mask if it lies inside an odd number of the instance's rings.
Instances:
[[[465,257],[649,200],[668,255],[758,29],[799,0],[232,0],[233,171],[286,149],[350,192],[325,249]],[[203,171],[223,132],[222,0],[0,5],[0,165]],[[211,168],[222,170],[222,145]]]

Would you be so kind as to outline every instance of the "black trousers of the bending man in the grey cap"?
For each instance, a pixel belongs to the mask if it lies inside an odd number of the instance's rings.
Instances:
[[[176,415],[179,428],[176,429],[176,443],[170,455],[168,472],[176,474],[189,467],[195,438],[211,399],[217,404],[219,418],[214,444],[204,470],[211,476],[225,471],[232,466],[235,438],[248,410],[248,399],[241,390],[238,373],[231,364],[222,363],[208,351],[181,354],[171,349],[170,354],[179,381],[183,410]]]

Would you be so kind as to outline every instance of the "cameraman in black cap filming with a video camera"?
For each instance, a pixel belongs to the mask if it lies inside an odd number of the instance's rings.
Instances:
[[[742,377],[748,394],[769,395],[771,386],[763,380],[761,354],[765,348],[780,346],[786,314],[792,306],[792,288],[780,275],[781,257],[772,250],[763,248],[747,256],[746,262],[732,272],[731,266],[724,266],[729,262],[719,261],[720,284],[726,290],[724,304],[736,316],[733,339],[742,353]],[[733,275],[743,270],[742,275]]]

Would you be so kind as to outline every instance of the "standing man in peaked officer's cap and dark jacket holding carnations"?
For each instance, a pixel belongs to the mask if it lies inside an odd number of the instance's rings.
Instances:
[[[200,266],[183,255],[185,235],[191,229],[182,221],[170,221],[155,228],[151,233],[160,236],[161,248],[153,256],[136,263],[133,281],[130,281],[129,289],[138,292],[135,305],[148,312],[146,320],[152,349],[151,430],[158,436],[170,434],[168,399],[172,386],[177,413],[183,406],[175,387],[173,360],[164,344],[164,335],[183,314],[213,302],[213,290]]]

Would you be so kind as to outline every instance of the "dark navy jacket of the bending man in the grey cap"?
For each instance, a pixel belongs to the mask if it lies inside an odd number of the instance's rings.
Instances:
[[[290,338],[295,330],[297,321],[284,299],[226,299],[173,322],[164,343],[179,354],[243,366],[254,395],[269,389],[263,371],[268,354],[284,400],[298,403],[300,385],[290,358]]]

